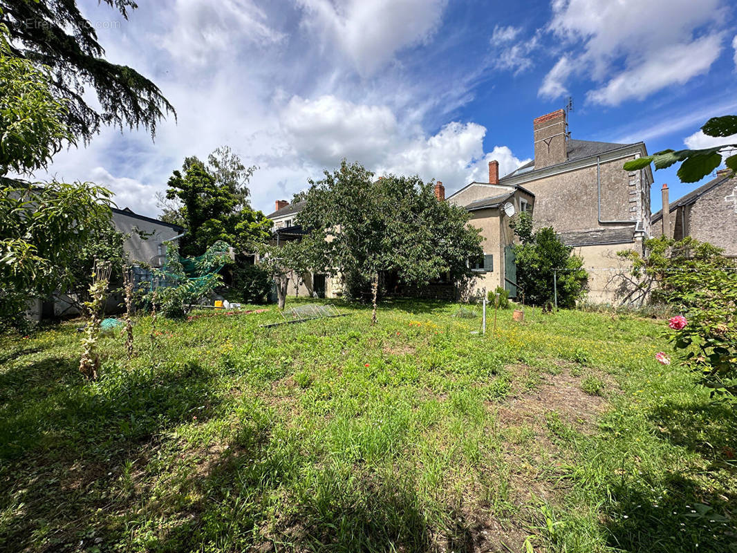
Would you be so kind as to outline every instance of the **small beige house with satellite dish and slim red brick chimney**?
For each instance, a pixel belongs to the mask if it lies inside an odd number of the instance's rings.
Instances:
[[[441,199],[441,198],[439,198]],[[469,291],[478,294],[483,288],[493,291],[506,288],[509,297],[517,297],[517,273],[514,265],[514,231],[511,218],[519,212],[532,211],[535,195],[517,185],[500,184],[499,162],[489,161],[489,182],[472,182],[447,198],[471,214],[469,223],[481,231],[483,257],[471,260],[476,278]]]

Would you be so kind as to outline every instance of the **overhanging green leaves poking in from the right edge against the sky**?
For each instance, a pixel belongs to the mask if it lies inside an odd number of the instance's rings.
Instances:
[[[712,117],[701,128],[707,136],[715,138],[724,138],[737,134],[737,115],[724,115],[721,117]],[[724,164],[732,170],[732,174],[737,171],[737,154],[733,153],[737,149],[737,144],[724,144],[701,150],[663,150],[654,153],[652,156],[645,156],[624,164],[627,171],[635,171],[654,164],[655,169],[665,169],[671,165],[681,162],[678,169],[678,178],[681,182],[700,181],[706,175],[715,170],[722,164],[722,157],[727,153],[733,155],[724,159]]]

